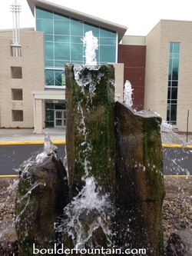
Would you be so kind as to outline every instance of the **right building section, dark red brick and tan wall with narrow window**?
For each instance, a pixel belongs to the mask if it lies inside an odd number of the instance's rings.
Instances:
[[[192,132],[191,40],[192,22],[161,20],[147,36],[125,35],[119,45],[134,108],[156,112],[180,132]]]

